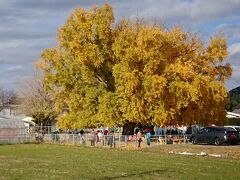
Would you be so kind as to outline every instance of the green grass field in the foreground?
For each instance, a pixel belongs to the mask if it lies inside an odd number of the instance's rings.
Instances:
[[[239,179],[240,161],[90,147],[0,146],[0,179]]]

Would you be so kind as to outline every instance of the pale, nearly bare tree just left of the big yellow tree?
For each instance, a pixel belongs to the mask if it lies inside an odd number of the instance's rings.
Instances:
[[[56,120],[54,101],[44,90],[43,79],[40,75],[34,74],[31,79],[23,81],[20,93],[21,109],[25,115],[33,117],[39,125],[40,123],[49,124]]]

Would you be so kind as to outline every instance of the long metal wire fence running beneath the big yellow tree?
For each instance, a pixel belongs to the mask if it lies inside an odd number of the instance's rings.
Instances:
[[[71,144],[81,146],[98,146],[110,148],[135,148],[152,147],[162,144],[185,144],[189,143],[188,135],[152,135],[147,141],[143,135],[141,140],[136,135],[122,135],[121,133],[112,133],[107,135],[62,132],[59,133],[52,127],[38,128],[0,128],[0,144],[5,143],[54,143]]]

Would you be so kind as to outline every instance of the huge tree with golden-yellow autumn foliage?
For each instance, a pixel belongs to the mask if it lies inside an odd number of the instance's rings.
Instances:
[[[114,23],[110,5],[77,8],[38,62],[61,128],[222,124],[231,67],[222,37],[139,20]]]

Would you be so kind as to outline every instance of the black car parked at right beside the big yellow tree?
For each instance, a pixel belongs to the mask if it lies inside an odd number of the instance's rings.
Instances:
[[[190,137],[192,144],[237,144],[239,142],[238,131],[227,127],[205,127]]]

